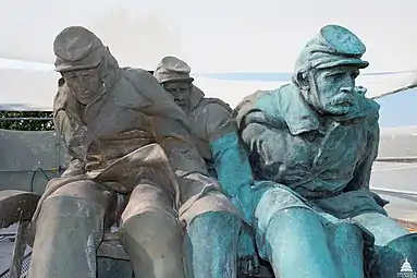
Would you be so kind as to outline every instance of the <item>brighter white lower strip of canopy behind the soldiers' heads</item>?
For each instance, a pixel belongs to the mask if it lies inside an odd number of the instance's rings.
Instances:
[[[49,68],[53,69],[53,65]],[[357,84],[367,87],[367,95],[375,97],[415,83],[415,76],[417,71],[363,75],[359,76]],[[51,110],[59,77],[60,75],[53,70],[0,68],[0,110]],[[205,90],[207,96],[219,97],[234,107],[257,89],[273,89],[291,80],[283,82],[217,80],[200,74],[196,76],[194,83]]]

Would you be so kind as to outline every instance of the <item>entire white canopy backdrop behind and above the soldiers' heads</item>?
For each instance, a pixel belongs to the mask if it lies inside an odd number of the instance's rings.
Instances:
[[[208,96],[234,106],[282,81],[214,80],[203,73],[291,73],[304,44],[321,26],[340,24],[367,46],[370,67],[364,73],[402,72],[361,76],[358,83],[375,96],[415,81],[409,71],[417,64],[416,8],[415,0],[353,0],[343,9],[332,0],[4,0],[0,58],[20,62],[0,61],[0,108],[51,109],[59,77],[52,41],[70,25],[94,31],[121,65],[152,70],[163,56],[175,55],[192,65]]]

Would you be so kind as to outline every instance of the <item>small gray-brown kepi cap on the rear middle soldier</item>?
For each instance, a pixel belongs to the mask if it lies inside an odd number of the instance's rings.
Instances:
[[[183,60],[167,56],[159,62],[154,72],[154,77],[159,83],[181,81],[192,83],[194,78],[189,76],[191,71],[189,65]]]

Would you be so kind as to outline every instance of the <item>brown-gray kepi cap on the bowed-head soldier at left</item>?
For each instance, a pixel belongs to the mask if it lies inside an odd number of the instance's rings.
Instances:
[[[93,32],[81,26],[64,28],[53,41],[56,71],[69,72],[96,68],[101,62],[102,49],[103,44]]]

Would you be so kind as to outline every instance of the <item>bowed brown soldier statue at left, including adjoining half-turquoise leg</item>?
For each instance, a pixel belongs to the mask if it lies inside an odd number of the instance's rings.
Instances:
[[[208,177],[184,111],[147,71],[120,69],[84,27],[63,29],[53,50],[65,81],[54,119],[73,159],[35,211],[29,277],[96,277],[116,193],[128,196],[120,237],[136,277],[216,277],[219,262],[233,274],[241,220]],[[191,265],[206,258],[201,273],[185,274],[184,249]]]

